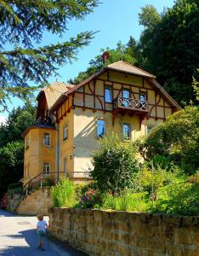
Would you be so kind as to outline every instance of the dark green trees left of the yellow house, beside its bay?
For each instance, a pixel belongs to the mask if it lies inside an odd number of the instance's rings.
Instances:
[[[23,177],[24,141],[22,133],[35,123],[36,109],[30,102],[9,113],[5,125],[0,126],[0,194],[6,192],[9,183],[17,183]]]

